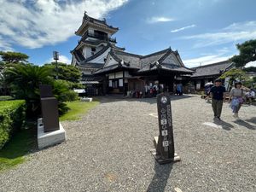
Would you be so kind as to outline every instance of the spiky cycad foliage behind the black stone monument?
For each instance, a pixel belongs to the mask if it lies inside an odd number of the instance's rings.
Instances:
[[[10,86],[11,95],[17,99],[26,100],[28,116],[37,116],[41,113],[39,85],[50,84],[53,94],[58,100],[60,114],[67,112],[64,102],[76,99],[77,95],[70,90],[67,81],[54,80],[49,67],[39,67],[32,64],[15,65],[6,70],[6,82]]]

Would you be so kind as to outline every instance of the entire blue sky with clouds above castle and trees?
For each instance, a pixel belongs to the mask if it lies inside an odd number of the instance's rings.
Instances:
[[[224,61],[256,38],[254,0],[0,0],[0,50],[42,65],[60,52],[70,62],[84,10],[119,27],[118,46],[148,55],[171,46],[187,67]]]

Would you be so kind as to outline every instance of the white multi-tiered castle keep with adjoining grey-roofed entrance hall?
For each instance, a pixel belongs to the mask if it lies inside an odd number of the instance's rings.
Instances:
[[[71,53],[72,64],[81,70],[89,95],[152,96],[155,90],[172,92],[183,75],[194,73],[171,47],[149,55],[125,52],[112,38],[118,30],[84,12],[82,25],[75,32],[81,39]]]

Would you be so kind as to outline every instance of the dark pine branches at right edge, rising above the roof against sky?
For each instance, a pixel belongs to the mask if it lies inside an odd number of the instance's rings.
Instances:
[[[230,58],[236,67],[244,67],[250,61],[256,61],[256,39],[249,40],[243,44],[236,44],[239,49],[239,55],[234,55]]]

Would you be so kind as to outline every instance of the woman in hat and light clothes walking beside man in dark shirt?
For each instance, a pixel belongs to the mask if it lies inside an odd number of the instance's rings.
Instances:
[[[239,119],[238,112],[241,108],[241,103],[243,102],[244,91],[241,89],[241,82],[236,82],[235,88],[230,91],[229,102],[232,99],[230,107],[233,111],[233,117]]]

